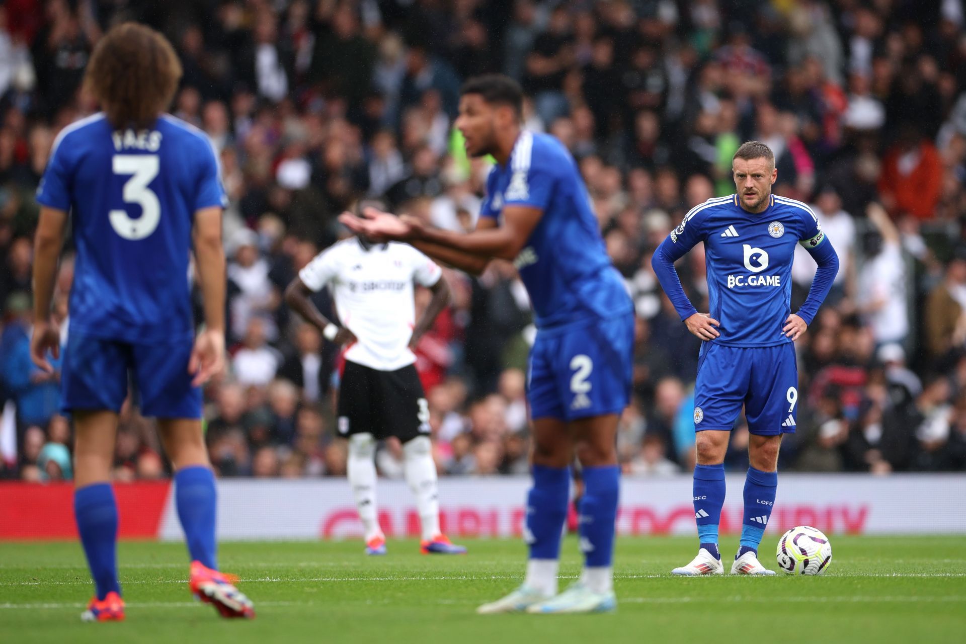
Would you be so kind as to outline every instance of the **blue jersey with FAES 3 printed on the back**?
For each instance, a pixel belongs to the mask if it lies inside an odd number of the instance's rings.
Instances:
[[[54,141],[37,200],[71,212],[71,329],[127,342],[193,334],[194,212],[226,205],[204,132],[169,115],[144,130],[78,121]]]

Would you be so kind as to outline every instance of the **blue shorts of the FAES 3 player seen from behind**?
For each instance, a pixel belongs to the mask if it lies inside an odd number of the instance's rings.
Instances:
[[[201,418],[201,389],[187,373],[194,341],[151,344],[105,340],[74,331],[68,335],[61,377],[61,408],[118,412],[128,396],[128,375],[141,413],[159,418]]]

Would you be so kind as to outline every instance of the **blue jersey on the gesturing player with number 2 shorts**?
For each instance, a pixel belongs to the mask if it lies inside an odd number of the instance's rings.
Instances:
[[[524,131],[506,167],[487,179],[481,217],[507,206],[543,210],[514,262],[540,328],[607,318],[633,309],[611,264],[573,156],[547,134]]]

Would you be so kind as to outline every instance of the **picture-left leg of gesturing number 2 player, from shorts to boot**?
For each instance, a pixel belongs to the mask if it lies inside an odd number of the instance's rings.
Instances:
[[[520,612],[556,594],[560,540],[570,496],[570,462],[574,458],[556,391],[556,378],[548,360],[556,345],[538,334],[530,351],[527,398],[533,418],[530,444],[533,483],[526,493],[526,578],[523,585],[506,597],[477,608],[479,613]]]

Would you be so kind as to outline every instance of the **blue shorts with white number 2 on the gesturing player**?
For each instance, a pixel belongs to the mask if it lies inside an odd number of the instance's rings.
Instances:
[[[621,413],[631,400],[634,313],[537,332],[526,391],[530,417]]]

